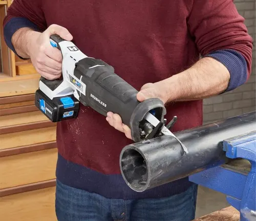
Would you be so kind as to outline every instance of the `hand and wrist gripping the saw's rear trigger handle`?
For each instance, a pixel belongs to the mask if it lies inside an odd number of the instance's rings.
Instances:
[[[72,40],[73,36],[69,31],[61,26],[51,25],[42,33],[26,28],[20,30],[20,32],[23,33],[19,33],[18,30],[17,36],[15,36],[15,33],[12,39],[17,54],[20,56],[26,54],[31,59],[36,71],[42,77],[48,80],[59,78],[62,73],[62,55],[57,48],[51,46],[50,36],[52,34],[58,34],[65,40]],[[20,40],[15,39],[15,37]],[[23,46],[19,47],[19,44],[23,44]],[[23,50],[17,50],[16,48]]]

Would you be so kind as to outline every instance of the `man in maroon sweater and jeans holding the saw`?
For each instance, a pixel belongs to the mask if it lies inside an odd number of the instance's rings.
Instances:
[[[232,0],[14,0],[4,34],[10,49],[50,80],[60,77],[62,60],[50,35],[73,40],[112,65],[140,91],[139,101],[160,98],[165,117],[178,116],[178,131],[202,124],[203,98],[248,79],[252,38],[243,22]],[[78,118],[57,124],[58,220],[194,219],[197,186],[188,178],[142,193],[124,183],[119,153],[129,138],[118,115],[105,119],[82,105]]]

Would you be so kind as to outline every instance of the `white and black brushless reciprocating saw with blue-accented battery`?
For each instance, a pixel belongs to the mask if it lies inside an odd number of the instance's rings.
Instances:
[[[103,116],[108,112],[120,115],[135,142],[174,136],[165,127],[166,109],[160,99],[139,102],[138,91],[115,74],[111,65],[88,57],[72,41],[58,35],[51,35],[50,43],[62,53],[62,76],[56,80],[40,78],[35,105],[52,122],[76,118],[82,104]]]

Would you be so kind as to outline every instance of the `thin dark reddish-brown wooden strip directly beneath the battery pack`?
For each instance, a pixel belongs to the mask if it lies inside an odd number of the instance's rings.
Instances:
[[[19,132],[19,131],[24,131],[24,130],[32,130],[32,129],[51,127],[51,126],[56,126],[56,125],[57,125],[56,123],[53,123],[50,120],[27,123],[27,124],[11,125],[11,126],[7,126],[7,127],[0,127],[0,135],[10,134],[13,132]]]

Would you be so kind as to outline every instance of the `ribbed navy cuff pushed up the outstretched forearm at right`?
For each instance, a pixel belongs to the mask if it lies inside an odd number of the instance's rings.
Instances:
[[[230,80],[225,92],[232,91],[238,86],[242,85],[247,80],[247,63],[242,54],[236,50],[224,49],[211,52],[204,57],[211,57],[228,69],[230,73]]]

